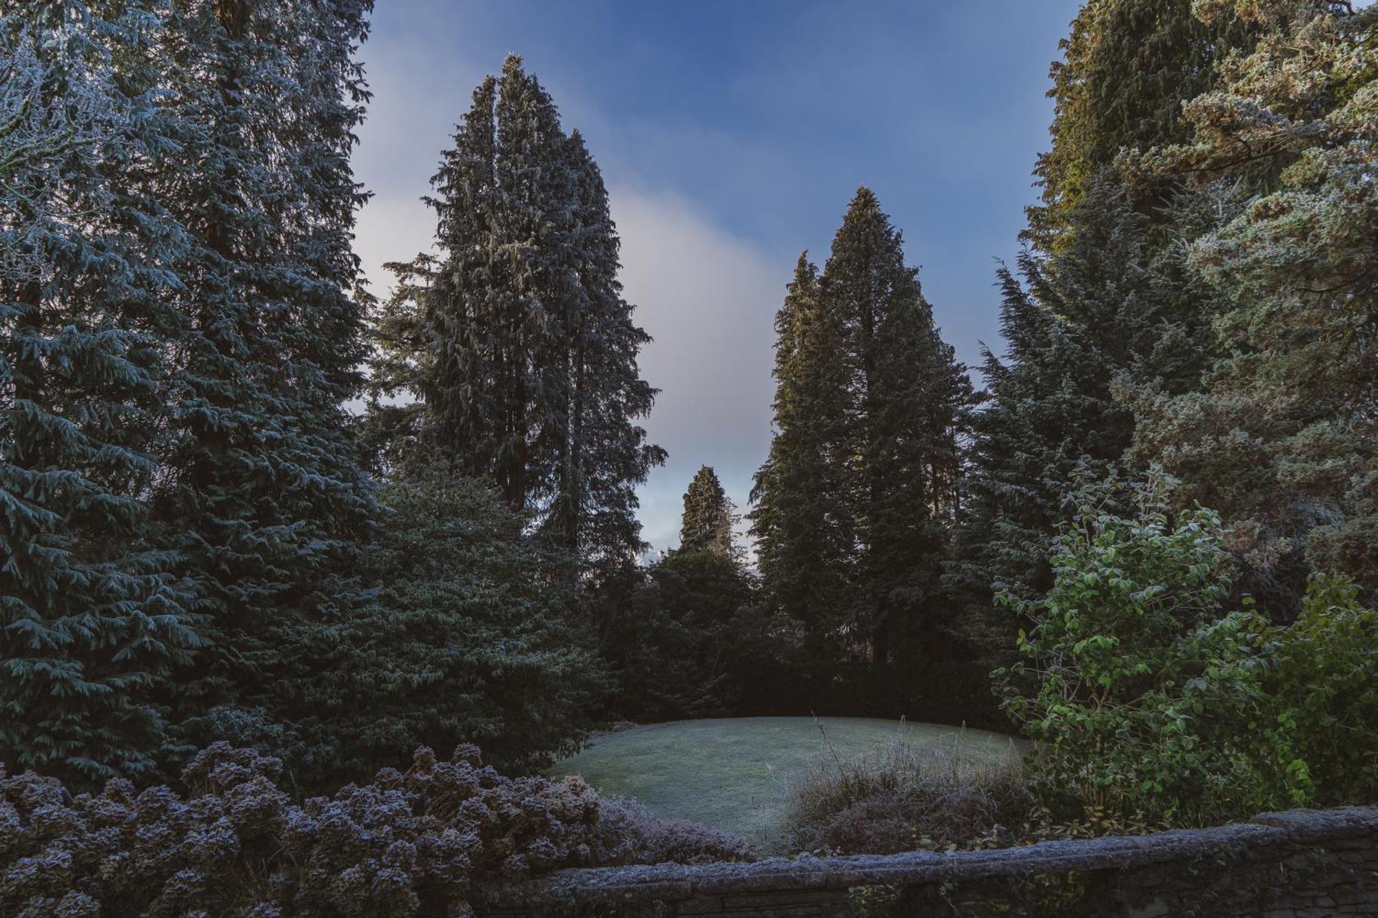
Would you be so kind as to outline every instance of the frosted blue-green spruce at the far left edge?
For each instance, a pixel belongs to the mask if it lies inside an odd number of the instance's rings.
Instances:
[[[161,25],[142,3],[0,18],[0,759],[77,786],[156,771],[153,689],[201,642],[143,531],[187,244],[150,193],[176,134]]]

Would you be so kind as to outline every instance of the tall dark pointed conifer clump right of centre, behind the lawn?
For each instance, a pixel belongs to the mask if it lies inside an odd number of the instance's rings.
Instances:
[[[932,642],[973,402],[870,189],[776,320],[776,437],[752,513],[768,593],[814,655]]]

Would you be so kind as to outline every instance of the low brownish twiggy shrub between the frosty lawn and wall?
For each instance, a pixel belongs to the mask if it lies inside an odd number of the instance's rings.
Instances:
[[[885,855],[1000,844],[1028,817],[1018,755],[967,757],[894,740],[879,753],[823,758],[798,779],[790,806],[805,850]]]

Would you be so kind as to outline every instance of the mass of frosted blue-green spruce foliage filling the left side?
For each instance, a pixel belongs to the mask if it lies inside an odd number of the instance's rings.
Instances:
[[[8,762],[136,776],[211,706],[271,718],[284,648],[349,602],[368,7],[0,21]]]

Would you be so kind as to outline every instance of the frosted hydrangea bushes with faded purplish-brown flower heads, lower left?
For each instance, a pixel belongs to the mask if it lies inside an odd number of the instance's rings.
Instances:
[[[119,779],[73,798],[56,779],[0,771],[0,914],[467,915],[478,878],[671,848],[655,820],[604,824],[577,777],[507,779],[473,746],[444,762],[420,748],[405,773],[300,804],[280,772],[226,743],[185,769],[186,797]],[[744,856],[730,841],[706,837],[699,850]]]

